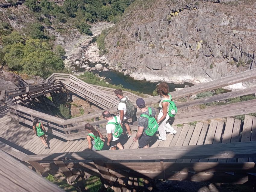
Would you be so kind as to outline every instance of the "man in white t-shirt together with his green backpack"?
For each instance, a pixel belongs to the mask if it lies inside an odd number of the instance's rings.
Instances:
[[[103,118],[108,121],[106,130],[108,134],[107,145],[111,146],[111,150],[116,150],[116,146],[119,149],[123,149],[122,144],[119,141],[120,135],[123,133],[123,128],[120,125],[120,118],[118,116],[111,117],[109,111],[102,112]]]

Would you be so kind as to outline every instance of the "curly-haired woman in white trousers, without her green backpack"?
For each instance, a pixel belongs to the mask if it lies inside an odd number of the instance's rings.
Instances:
[[[167,100],[172,100],[171,95],[169,95],[169,86],[165,82],[157,85],[157,93],[160,95],[160,97],[163,97],[159,103],[159,107],[161,109],[160,113],[158,114],[157,122],[159,125],[158,132],[160,136],[157,140],[164,141],[166,140],[166,134],[176,134],[177,131],[171,126],[174,121],[174,117],[170,117],[168,115],[170,103],[167,102]],[[171,125],[169,124],[168,120]]]

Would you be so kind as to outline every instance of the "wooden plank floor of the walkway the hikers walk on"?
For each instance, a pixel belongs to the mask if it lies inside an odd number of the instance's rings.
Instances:
[[[34,154],[52,154],[61,152],[82,152],[88,147],[87,140],[72,140],[66,141],[58,137],[47,136],[47,141],[50,149],[44,149],[41,140],[35,136],[33,129],[20,125],[11,121],[11,116],[8,111],[0,113],[0,142],[1,146],[7,145],[23,152],[27,155]],[[173,147],[173,146],[191,146],[191,145],[208,145],[217,143],[233,143],[256,141],[256,117],[245,116],[243,127],[242,122],[238,119],[228,118],[226,125],[222,121],[211,120],[211,124],[197,122],[194,125],[184,124],[182,127],[173,126],[177,133],[175,135],[167,135],[167,140],[158,141],[156,136],[153,136],[150,148],[157,147]],[[136,132],[133,136],[127,139],[121,136],[121,143],[124,149],[137,149],[138,142],[134,142]],[[103,150],[108,150],[105,145]],[[133,160],[131,160],[133,161]],[[88,161],[91,162],[91,161]],[[130,162],[124,160],[123,162]],[[195,163],[195,162],[256,162],[256,158],[236,158],[236,159],[179,159],[169,160],[168,162],[176,163]]]

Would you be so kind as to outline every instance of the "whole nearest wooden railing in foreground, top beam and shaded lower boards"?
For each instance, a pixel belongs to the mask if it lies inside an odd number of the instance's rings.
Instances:
[[[102,176],[108,182],[114,178],[138,177],[151,179],[211,181],[244,183],[246,173],[256,173],[254,162],[245,163],[172,163],[175,159],[222,159],[256,157],[256,142],[239,142],[197,146],[175,146],[150,149],[125,149],[115,151],[88,151],[28,155],[23,158],[30,164],[40,163],[52,173],[63,173],[72,181],[79,172]],[[90,161],[91,160],[91,161]],[[123,160],[133,160],[126,162]],[[78,162],[79,161],[79,162]],[[147,162],[145,162],[147,161]],[[169,161],[169,162],[168,162]],[[74,171],[74,172],[73,172]],[[81,172],[82,171],[82,172]],[[189,173],[200,172],[200,173]],[[207,171],[207,173],[205,173]],[[244,173],[239,177],[226,176],[224,172]],[[175,173],[174,173],[175,172]],[[209,174],[209,172],[215,172]]]

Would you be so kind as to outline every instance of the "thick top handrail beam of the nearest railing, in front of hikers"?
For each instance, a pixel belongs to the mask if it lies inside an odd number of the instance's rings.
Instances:
[[[150,149],[124,149],[114,151],[88,151],[29,155],[23,161],[64,160],[161,160],[161,159],[220,159],[256,157],[256,141],[160,147]],[[150,155],[149,155],[150,154]]]

